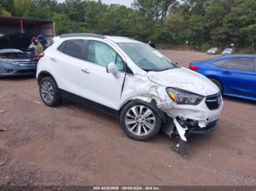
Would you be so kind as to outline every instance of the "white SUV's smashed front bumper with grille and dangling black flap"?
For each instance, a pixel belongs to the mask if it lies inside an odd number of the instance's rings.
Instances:
[[[214,103],[216,101],[216,103]],[[223,101],[222,95],[210,95],[203,99],[197,106],[166,104],[161,110],[168,116],[164,131],[167,135],[178,134],[179,141],[171,147],[187,157],[187,136],[209,133],[217,125]]]

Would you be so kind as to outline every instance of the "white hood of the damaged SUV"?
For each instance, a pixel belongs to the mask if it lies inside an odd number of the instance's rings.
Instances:
[[[200,95],[219,93],[219,87],[210,79],[189,69],[178,68],[167,71],[149,71],[148,79],[165,87],[177,87]]]

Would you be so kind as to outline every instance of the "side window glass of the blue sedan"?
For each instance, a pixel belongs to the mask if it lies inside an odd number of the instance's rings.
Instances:
[[[227,69],[254,71],[255,59],[254,58],[231,58],[227,62]]]

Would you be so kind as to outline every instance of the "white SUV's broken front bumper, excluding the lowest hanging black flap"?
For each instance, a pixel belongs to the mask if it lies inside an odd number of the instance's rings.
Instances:
[[[209,97],[212,98],[213,95]],[[211,105],[208,104],[208,98],[206,97],[197,106],[172,103],[162,106],[161,110],[173,119],[173,124],[181,138],[185,134],[208,133],[217,125],[217,120],[220,117],[223,106],[222,96],[217,94],[215,97],[217,102],[215,106],[213,106],[213,101]],[[176,133],[175,128],[173,128],[173,133]],[[183,140],[186,141],[186,139]]]

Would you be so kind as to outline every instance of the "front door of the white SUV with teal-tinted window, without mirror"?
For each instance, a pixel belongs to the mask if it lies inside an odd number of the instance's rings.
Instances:
[[[116,63],[118,73],[107,73],[109,63]],[[80,95],[112,109],[120,106],[124,82],[124,61],[110,44],[90,40],[86,61],[80,69]]]

